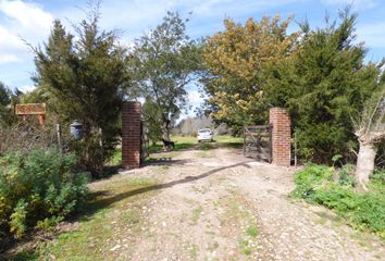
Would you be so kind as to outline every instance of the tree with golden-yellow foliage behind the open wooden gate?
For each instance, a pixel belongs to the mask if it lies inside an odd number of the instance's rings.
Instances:
[[[268,121],[265,102],[270,66],[290,55],[297,34],[286,33],[290,18],[249,18],[244,25],[224,20],[224,32],[209,37],[203,49],[208,111],[233,128]]]

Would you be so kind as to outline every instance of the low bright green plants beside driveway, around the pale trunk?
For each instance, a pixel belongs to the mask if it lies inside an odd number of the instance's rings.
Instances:
[[[343,167],[334,182],[333,167],[308,165],[296,173],[293,194],[308,202],[333,209],[352,226],[370,229],[385,239],[385,172],[376,172],[372,176],[370,191],[357,192],[349,176],[350,169],[350,165]]]

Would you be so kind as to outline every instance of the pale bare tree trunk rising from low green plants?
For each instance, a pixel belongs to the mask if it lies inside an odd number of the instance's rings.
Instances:
[[[376,152],[377,147],[375,145],[360,141],[360,150],[357,157],[356,181],[363,190],[368,190],[367,183],[369,182],[369,176],[374,171]]]

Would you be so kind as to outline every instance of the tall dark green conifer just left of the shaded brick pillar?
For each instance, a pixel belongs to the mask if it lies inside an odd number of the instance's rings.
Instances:
[[[120,135],[122,90],[128,80],[125,50],[115,32],[101,30],[98,18],[97,7],[75,26],[76,37],[54,21],[48,42],[33,50],[38,88],[60,121],[82,122],[82,163],[101,175]]]

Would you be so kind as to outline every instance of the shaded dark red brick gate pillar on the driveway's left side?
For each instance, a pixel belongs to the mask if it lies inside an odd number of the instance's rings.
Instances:
[[[123,103],[122,108],[122,167],[140,166],[141,104],[137,101]]]

